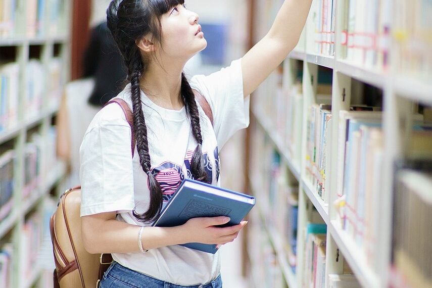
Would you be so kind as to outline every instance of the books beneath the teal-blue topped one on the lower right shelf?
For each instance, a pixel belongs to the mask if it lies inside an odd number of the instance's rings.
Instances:
[[[327,226],[307,225],[302,287],[324,287]]]

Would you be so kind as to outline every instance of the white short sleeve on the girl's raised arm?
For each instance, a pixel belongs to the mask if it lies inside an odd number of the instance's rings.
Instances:
[[[236,131],[249,126],[250,99],[244,98],[241,59],[209,76],[194,76],[190,85],[206,98],[212,109],[220,149]]]

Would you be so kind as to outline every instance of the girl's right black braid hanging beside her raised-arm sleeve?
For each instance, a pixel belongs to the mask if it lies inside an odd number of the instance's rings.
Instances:
[[[201,135],[200,114],[198,112],[194,92],[192,91],[186,76],[184,76],[184,73],[181,74],[181,95],[186,105],[186,111],[190,117],[192,133],[198,143],[190,163],[192,176],[194,176],[198,181],[208,182],[207,172],[204,169],[205,161],[202,151],[203,137]]]

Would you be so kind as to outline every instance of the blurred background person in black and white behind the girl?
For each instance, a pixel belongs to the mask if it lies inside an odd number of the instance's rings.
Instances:
[[[83,57],[83,77],[65,86],[57,116],[57,155],[66,162],[66,187],[79,184],[79,146],[91,119],[121,90],[123,64],[107,23],[95,26]]]

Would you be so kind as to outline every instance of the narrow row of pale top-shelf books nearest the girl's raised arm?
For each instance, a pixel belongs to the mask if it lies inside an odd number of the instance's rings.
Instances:
[[[334,56],[336,1],[314,0],[308,23],[308,53]]]

